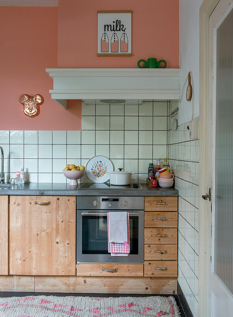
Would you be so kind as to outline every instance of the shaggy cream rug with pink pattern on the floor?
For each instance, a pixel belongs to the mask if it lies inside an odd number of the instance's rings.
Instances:
[[[178,317],[174,297],[24,296],[0,298],[1,317]]]

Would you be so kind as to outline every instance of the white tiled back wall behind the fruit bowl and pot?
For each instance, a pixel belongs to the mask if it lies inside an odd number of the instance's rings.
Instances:
[[[62,173],[67,164],[86,166],[104,155],[116,170],[135,172],[132,182],[145,183],[149,163],[167,156],[169,104],[82,104],[82,131],[0,131],[6,181],[24,166],[30,182],[69,182]],[[90,180],[84,175],[82,182]]]

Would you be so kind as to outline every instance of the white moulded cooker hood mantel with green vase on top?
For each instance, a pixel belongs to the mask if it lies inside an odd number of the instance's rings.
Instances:
[[[69,99],[179,99],[179,68],[47,68],[49,92],[67,109]]]

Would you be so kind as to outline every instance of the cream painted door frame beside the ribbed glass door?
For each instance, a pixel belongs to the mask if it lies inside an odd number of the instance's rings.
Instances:
[[[202,199],[209,184],[209,20],[220,0],[204,0],[200,7],[200,167],[199,167],[199,263],[198,263],[198,316],[207,316],[207,276],[211,267],[211,213],[210,204]],[[231,1],[229,1],[230,3]],[[211,34],[212,36],[212,34]],[[211,133],[210,133],[211,135]]]

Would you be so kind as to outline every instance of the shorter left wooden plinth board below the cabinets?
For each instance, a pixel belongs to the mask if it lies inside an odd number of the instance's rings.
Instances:
[[[0,275],[0,292],[34,292],[34,276]]]

